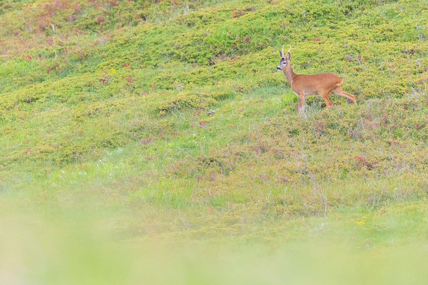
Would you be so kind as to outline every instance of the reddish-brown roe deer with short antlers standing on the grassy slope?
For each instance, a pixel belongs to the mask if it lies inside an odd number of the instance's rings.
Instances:
[[[279,65],[276,69],[284,72],[285,78],[287,78],[287,81],[291,85],[291,90],[293,90],[294,94],[299,98],[299,113],[303,112],[306,95],[321,95],[327,110],[330,110],[331,106],[333,106],[333,103],[331,103],[328,98],[328,95],[332,92],[333,94],[346,97],[354,102],[354,104],[357,104],[354,95],[346,93],[340,89],[342,80],[334,74],[295,74],[290,65],[290,50],[291,45],[287,54],[284,56],[284,45],[282,45],[282,52],[279,51],[281,60],[279,61]]]

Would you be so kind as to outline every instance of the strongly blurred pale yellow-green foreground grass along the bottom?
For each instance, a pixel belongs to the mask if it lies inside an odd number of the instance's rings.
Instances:
[[[111,243],[84,223],[4,218],[2,284],[425,284],[428,277],[426,244],[368,251],[337,239]]]

